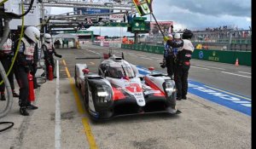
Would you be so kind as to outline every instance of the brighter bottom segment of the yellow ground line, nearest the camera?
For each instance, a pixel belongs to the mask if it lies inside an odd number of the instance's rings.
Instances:
[[[86,117],[84,117],[84,118],[82,118],[82,122],[83,122],[83,125],[84,125],[84,131],[85,131],[85,134],[87,136],[87,140],[88,140],[89,145],[90,145],[90,149],[97,149],[98,146],[96,145],[96,141],[94,139],[94,136],[92,135],[90,125],[88,123],[88,119]]]

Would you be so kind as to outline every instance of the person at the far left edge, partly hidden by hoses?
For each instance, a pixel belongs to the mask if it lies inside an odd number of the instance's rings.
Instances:
[[[10,66],[12,64],[12,58],[14,57],[14,52],[12,50],[13,48],[13,41],[10,38],[10,33],[9,36],[6,40],[5,43],[3,43],[3,48],[0,49],[0,60],[2,62],[4,71],[7,73],[10,69]],[[13,97],[19,97],[19,95],[15,92],[15,83],[14,83],[14,69],[12,68],[11,71],[9,72],[9,83],[13,92]],[[0,80],[2,80],[2,77],[0,76]],[[0,100],[6,100],[5,95],[4,95],[4,90],[5,90],[5,85],[2,83],[0,85]]]

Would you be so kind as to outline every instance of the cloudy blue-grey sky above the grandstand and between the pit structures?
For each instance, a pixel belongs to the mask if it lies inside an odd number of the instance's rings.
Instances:
[[[51,14],[63,14],[73,9],[55,8]],[[204,30],[207,27],[237,26],[249,29],[252,21],[251,0],[153,0],[153,11],[157,20],[174,21],[174,29],[188,28]],[[149,16],[148,20],[149,20]],[[119,32],[117,32],[117,29]],[[120,28],[91,27],[102,36],[120,35]],[[122,29],[122,35],[126,29]]]

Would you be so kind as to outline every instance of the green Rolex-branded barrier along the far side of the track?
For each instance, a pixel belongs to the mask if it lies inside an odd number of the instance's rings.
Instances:
[[[154,54],[164,54],[163,46],[151,46],[140,44],[122,44],[122,49],[133,49],[137,51],[149,52]],[[252,52],[247,51],[222,51],[212,49],[195,49],[192,54],[193,59],[209,60],[222,63],[235,64],[236,59],[239,65],[252,66]]]

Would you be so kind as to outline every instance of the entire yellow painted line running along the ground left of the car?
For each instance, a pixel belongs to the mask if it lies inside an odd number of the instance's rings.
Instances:
[[[63,60],[64,64],[66,65],[65,61]],[[82,104],[81,104],[81,101],[79,100],[79,94],[78,94],[78,91],[73,83],[73,78],[70,77],[70,73],[67,69],[67,66],[66,66],[66,72],[67,72],[67,77],[69,78],[69,82],[70,82],[70,85],[71,85],[71,89],[73,91],[73,95],[75,97],[75,101],[76,101],[76,104],[78,106],[78,109],[79,109],[79,113],[80,114],[84,114],[85,111],[84,111],[84,108],[82,107]],[[96,140],[94,139],[94,136],[91,132],[91,129],[90,129],[90,125],[88,123],[88,119],[86,117],[83,117],[82,118],[82,123],[84,125],[84,133],[87,137],[87,140],[89,142],[89,146],[90,146],[90,149],[98,149],[98,147],[96,146]]]

